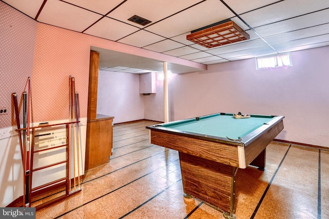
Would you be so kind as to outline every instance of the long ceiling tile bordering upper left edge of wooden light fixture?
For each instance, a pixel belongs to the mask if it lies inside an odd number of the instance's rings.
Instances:
[[[233,16],[234,14],[220,1],[208,0],[149,26],[145,30],[170,38]]]

